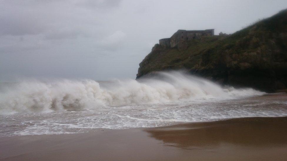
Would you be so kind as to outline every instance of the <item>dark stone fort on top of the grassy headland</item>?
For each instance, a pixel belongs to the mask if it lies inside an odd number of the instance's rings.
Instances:
[[[164,38],[159,40],[159,45],[163,48],[174,48],[184,50],[188,46],[188,41],[193,39],[200,39],[201,36],[213,36],[214,29],[209,30],[177,30],[171,38]]]

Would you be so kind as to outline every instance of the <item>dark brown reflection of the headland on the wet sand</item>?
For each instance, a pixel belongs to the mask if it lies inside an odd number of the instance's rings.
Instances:
[[[145,130],[163,144],[188,149],[287,147],[287,117],[238,118]],[[286,149],[287,150],[287,149]]]

